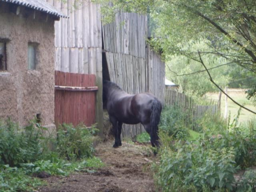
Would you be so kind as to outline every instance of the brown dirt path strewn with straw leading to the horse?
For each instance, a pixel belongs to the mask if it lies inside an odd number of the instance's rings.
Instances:
[[[123,142],[123,146],[113,148],[112,142],[96,147],[96,156],[106,166],[95,173],[76,173],[66,178],[50,177],[48,185],[39,191],[155,191],[152,175],[147,172],[148,162],[154,157],[146,157],[147,150],[141,145]]]

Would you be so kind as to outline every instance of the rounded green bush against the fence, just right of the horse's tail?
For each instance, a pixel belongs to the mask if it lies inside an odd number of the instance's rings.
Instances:
[[[166,106],[161,113],[159,130],[174,138],[186,139],[189,136],[187,120],[187,115],[178,105]]]

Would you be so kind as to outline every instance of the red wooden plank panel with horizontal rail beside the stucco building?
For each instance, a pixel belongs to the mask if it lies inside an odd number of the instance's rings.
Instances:
[[[95,123],[96,76],[55,71],[55,124]]]

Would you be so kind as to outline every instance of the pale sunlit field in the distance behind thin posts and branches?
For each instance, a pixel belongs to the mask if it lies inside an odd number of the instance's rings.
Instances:
[[[252,102],[246,99],[246,95],[244,93],[232,93],[229,92],[228,95],[238,103],[244,105],[246,108],[256,112],[256,107],[253,106]],[[218,102],[219,93],[207,93],[206,98],[208,100],[214,100]],[[230,112],[231,120],[237,116],[239,110],[239,106],[235,104],[233,101],[228,99],[228,113]],[[221,114],[224,116],[225,112],[225,95],[222,94],[221,97]],[[256,115],[250,113],[247,110],[242,109],[239,117],[239,123],[247,122],[249,119],[256,118]]]

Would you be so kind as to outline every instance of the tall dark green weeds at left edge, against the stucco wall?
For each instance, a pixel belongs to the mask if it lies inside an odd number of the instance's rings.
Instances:
[[[8,120],[0,124],[0,164],[10,166],[33,162],[41,155],[40,128],[33,122],[20,128]]]

